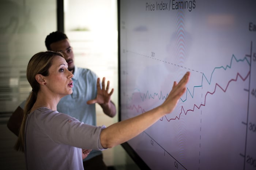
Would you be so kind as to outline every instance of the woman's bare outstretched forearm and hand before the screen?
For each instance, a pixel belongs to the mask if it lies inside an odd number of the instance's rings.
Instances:
[[[172,91],[158,107],[133,118],[112,124],[101,132],[101,145],[111,148],[139,135],[162,116],[169,114],[176,107],[178,100],[186,91],[190,72],[187,72],[179,83],[174,82]]]

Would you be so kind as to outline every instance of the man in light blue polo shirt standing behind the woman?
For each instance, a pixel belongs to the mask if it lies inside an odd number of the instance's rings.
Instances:
[[[95,103],[98,103],[106,115],[114,117],[116,115],[116,107],[110,100],[113,89],[108,93],[109,82],[105,90],[105,78],[103,78],[102,90],[97,91],[97,86],[100,86],[100,84],[97,84],[97,75],[89,69],[79,68],[74,65],[74,54],[68,37],[59,31],[52,32],[46,37],[45,46],[48,51],[65,53],[67,55],[68,69],[74,74],[72,78],[74,82],[73,93],[60,100],[57,105],[57,111],[67,113],[86,124],[96,125]],[[23,117],[24,105],[25,101],[16,108],[7,123],[8,128],[17,136]],[[83,161],[84,169],[86,170],[107,169],[103,162],[101,151],[91,151]]]

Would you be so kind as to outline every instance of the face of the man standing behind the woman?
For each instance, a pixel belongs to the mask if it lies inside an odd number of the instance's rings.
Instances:
[[[67,63],[68,69],[73,72],[74,71],[74,54],[72,47],[69,45],[68,39],[60,40],[50,44],[50,48],[52,51],[60,51],[64,52],[67,55]]]

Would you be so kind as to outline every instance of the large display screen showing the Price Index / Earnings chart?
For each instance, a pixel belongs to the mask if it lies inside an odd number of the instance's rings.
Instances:
[[[173,112],[123,144],[144,169],[256,169],[256,1],[118,0],[119,120]]]

